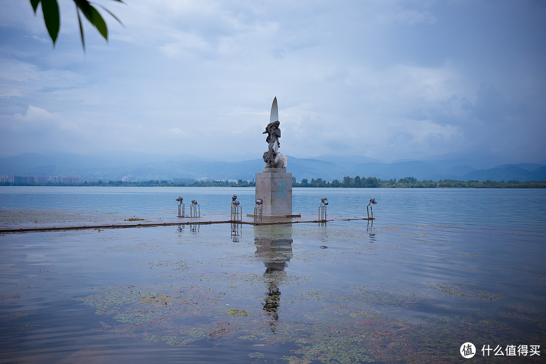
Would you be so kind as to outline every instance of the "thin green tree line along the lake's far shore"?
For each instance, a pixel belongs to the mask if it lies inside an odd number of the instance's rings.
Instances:
[[[237,182],[227,181],[195,181],[194,183],[173,183],[167,180],[150,180],[139,182],[122,181],[97,181],[82,183],[10,183],[2,182],[0,186],[135,186],[135,187],[254,187],[254,181],[238,180]],[[346,187],[346,188],[546,188],[545,181],[483,181],[477,180],[439,180],[439,181],[418,181],[415,177],[404,177],[396,180],[381,180],[376,177],[343,177],[343,180],[325,181],[322,178],[302,178],[300,182],[292,178],[293,187]]]

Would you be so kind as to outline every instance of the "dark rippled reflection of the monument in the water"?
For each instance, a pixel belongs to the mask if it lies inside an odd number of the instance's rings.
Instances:
[[[281,301],[279,285],[286,276],[284,268],[292,258],[291,228],[290,225],[256,226],[256,256],[264,262],[264,277],[268,284],[263,311],[269,317],[272,332],[275,331]]]

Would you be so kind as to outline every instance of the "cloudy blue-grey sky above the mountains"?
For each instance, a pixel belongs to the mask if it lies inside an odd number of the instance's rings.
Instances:
[[[0,2],[0,157],[145,152],[546,159],[542,0]],[[85,19],[84,19],[85,20]]]

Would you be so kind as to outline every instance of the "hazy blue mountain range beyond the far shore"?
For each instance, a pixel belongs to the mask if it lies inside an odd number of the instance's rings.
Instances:
[[[478,180],[478,181],[544,181],[544,163],[518,163],[486,166],[472,158],[395,160],[384,163],[364,156],[333,154],[313,158],[288,156],[287,171],[296,180],[322,178],[332,181],[344,176],[391,178],[415,177],[418,180]],[[25,153],[0,158],[0,175],[79,176],[82,180],[110,181],[130,176],[133,180],[172,180],[173,178],[208,177],[212,180],[254,180],[262,171],[262,159],[241,162],[218,162],[188,154],[176,156],[152,153],[91,153],[51,152]]]

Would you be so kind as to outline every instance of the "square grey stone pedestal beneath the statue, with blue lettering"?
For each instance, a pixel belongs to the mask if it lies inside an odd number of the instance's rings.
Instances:
[[[256,174],[256,199],[263,199],[264,218],[293,217],[292,173],[286,168],[264,168]]]

